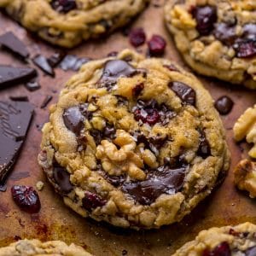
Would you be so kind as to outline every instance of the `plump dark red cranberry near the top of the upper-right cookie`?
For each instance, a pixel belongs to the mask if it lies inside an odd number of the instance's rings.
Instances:
[[[207,36],[217,21],[217,9],[215,6],[196,6],[192,9],[192,15],[196,20],[196,29],[202,36]]]

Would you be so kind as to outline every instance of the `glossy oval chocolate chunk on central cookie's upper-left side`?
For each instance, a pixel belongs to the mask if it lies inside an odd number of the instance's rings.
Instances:
[[[67,129],[73,131],[76,136],[84,129],[84,115],[79,106],[67,108],[63,113],[63,120]]]

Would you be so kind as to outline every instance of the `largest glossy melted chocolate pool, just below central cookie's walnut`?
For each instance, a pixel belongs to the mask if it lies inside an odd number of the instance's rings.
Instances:
[[[148,172],[142,182],[124,183],[121,189],[142,205],[152,204],[160,195],[174,195],[183,188],[185,167],[172,169],[169,166]]]

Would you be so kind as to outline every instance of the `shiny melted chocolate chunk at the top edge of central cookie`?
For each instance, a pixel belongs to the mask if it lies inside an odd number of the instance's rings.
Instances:
[[[137,74],[137,70],[134,67],[131,67],[126,61],[107,61],[98,84],[111,90],[113,84],[115,84],[120,77],[132,77],[135,74]]]

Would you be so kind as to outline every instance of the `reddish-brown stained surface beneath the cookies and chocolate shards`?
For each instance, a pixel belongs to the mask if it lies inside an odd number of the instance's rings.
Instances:
[[[163,5],[163,2],[154,1],[160,6]],[[142,26],[147,32],[148,38],[154,33],[164,36],[168,42],[165,57],[176,60],[185,67],[164,26],[162,8],[154,7],[151,4],[143,15],[135,20],[133,26]],[[41,53],[49,56],[55,52],[54,47],[32,37],[26,30],[9,20],[6,15],[0,14],[0,34],[7,31],[15,32],[26,43],[32,55]],[[121,32],[116,32],[108,39],[103,38],[97,42],[85,43],[70,50],[69,54],[100,58],[113,50],[125,49],[126,47],[131,47],[128,39]],[[139,50],[145,54],[146,45]],[[24,65],[2,50],[0,51],[0,63]],[[189,70],[188,67],[186,68]],[[218,96],[227,95],[235,102],[232,112],[223,117],[224,126],[227,130],[227,140],[232,153],[229,175],[220,188],[216,189],[181,223],[172,224],[160,230],[137,232],[135,230],[119,230],[108,224],[98,224],[90,219],[79,217],[64,206],[61,197],[55,194],[38,167],[37,155],[41,140],[38,126],[44,124],[48,119],[48,110],[40,109],[40,105],[46,95],[53,96],[52,102],[55,102],[63,84],[73,74],[72,72],[65,73],[60,69],[55,71],[55,79],[39,72],[41,90],[29,92],[20,84],[8,90],[0,91],[1,100],[8,99],[9,96],[27,95],[30,102],[35,106],[35,116],[20,158],[9,176],[8,189],[5,193],[0,192],[0,246],[7,245],[19,237],[36,237],[43,241],[49,239],[61,239],[68,243],[73,241],[87,247],[95,255],[122,255],[122,253],[125,255],[127,252],[127,255],[164,256],[171,255],[184,242],[194,239],[202,229],[226,224],[239,224],[245,221],[256,224],[256,201],[249,199],[246,194],[235,189],[232,174],[233,167],[241,157],[246,155],[248,147],[246,143],[238,146],[234,142],[232,127],[240,114],[256,102],[256,91],[200,77],[214,99],[217,99]],[[244,153],[242,153],[242,147],[246,148]],[[35,186],[38,180],[45,183],[44,190],[39,192],[42,203],[41,211],[32,215],[21,212],[11,199],[11,186],[14,184]]]

